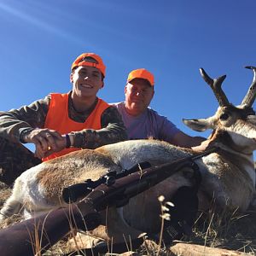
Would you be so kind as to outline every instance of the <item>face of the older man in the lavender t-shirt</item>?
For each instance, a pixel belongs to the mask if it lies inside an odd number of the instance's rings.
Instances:
[[[137,116],[148,108],[154,96],[153,86],[145,79],[132,79],[125,86],[125,108],[131,115]]]

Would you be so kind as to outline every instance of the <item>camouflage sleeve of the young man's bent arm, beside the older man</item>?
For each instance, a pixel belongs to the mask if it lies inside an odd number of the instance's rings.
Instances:
[[[73,147],[93,149],[105,144],[125,141],[128,138],[125,125],[116,108],[107,108],[102,113],[101,121],[100,130],[84,129],[72,132],[75,135]]]

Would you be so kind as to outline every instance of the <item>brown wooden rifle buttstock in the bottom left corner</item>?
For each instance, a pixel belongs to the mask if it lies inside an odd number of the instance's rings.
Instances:
[[[73,228],[93,230],[100,224],[100,214],[89,201],[60,208],[0,231],[0,254],[41,255]]]

